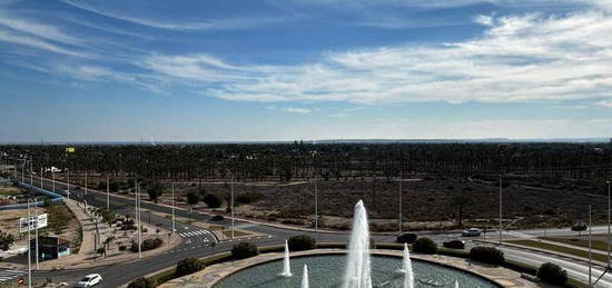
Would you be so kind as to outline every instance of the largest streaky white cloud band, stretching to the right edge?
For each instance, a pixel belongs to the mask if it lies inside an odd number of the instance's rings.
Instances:
[[[487,20],[488,21],[488,20]],[[602,11],[492,18],[475,39],[324,53],[300,66],[151,56],[142,66],[203,93],[245,101],[526,102],[610,98],[612,17]]]

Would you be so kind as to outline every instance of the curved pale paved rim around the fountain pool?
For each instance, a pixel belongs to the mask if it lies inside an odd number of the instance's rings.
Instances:
[[[300,255],[294,255],[294,256],[290,256],[290,257],[292,257],[292,259],[295,259],[295,258],[303,258],[303,257],[317,257],[317,256],[346,255],[346,254],[348,254],[347,249],[334,249],[334,250],[313,249],[313,250],[295,251],[295,252],[307,252],[307,251],[312,251],[312,254],[300,254]],[[373,256],[373,257],[388,257],[388,258],[403,258],[403,256],[401,256],[401,255],[388,254],[388,251],[395,251],[395,250],[371,250],[371,256]],[[290,255],[290,252],[289,252],[289,255]],[[499,282],[497,280],[492,279],[492,278],[490,278],[485,275],[478,274],[477,271],[473,271],[473,270],[470,270],[470,269],[464,269],[462,267],[452,266],[452,265],[448,265],[448,264],[445,264],[445,262],[434,261],[434,260],[431,260],[431,259],[423,259],[423,258],[419,258],[419,257],[415,258],[413,256],[414,255],[411,254],[411,260],[427,262],[427,264],[432,264],[432,265],[442,266],[444,268],[458,270],[458,271],[462,271],[462,272],[482,278],[482,279],[497,286],[499,288],[504,287],[504,285],[502,282]],[[257,257],[257,256],[255,256],[255,257]],[[255,262],[253,265],[240,267],[240,268],[238,268],[238,269],[236,269],[236,270],[234,270],[229,274],[224,275],[223,277],[219,277],[219,278],[215,279],[207,287],[216,288],[219,282],[221,282],[223,280],[231,277],[233,275],[236,275],[236,274],[238,274],[243,270],[246,270],[246,269],[249,269],[249,268],[253,268],[253,267],[257,267],[257,266],[260,266],[260,265],[266,265],[266,264],[269,264],[269,262],[273,262],[273,261],[282,261],[283,257],[284,257],[284,255],[282,255],[280,257],[276,257],[276,258],[272,258],[272,259],[265,259],[265,260]],[[246,260],[246,259],[241,259],[241,260]]]

